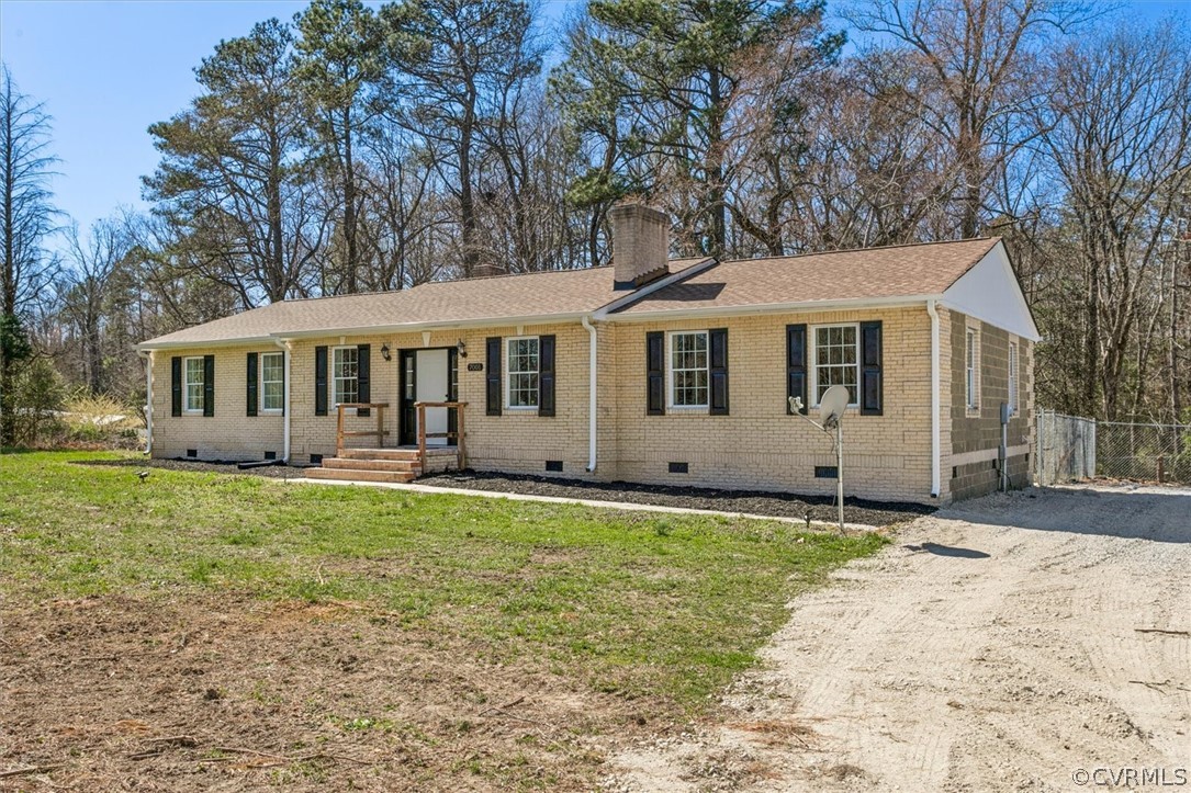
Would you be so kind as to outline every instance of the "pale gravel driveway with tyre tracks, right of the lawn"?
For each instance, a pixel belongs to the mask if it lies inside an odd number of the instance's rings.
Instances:
[[[1187,780],[1189,631],[1191,491],[961,504],[792,602],[724,724],[622,753],[605,787],[1103,789],[1073,781],[1096,768]]]

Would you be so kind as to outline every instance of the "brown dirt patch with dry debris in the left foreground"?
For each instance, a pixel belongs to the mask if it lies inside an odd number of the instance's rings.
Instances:
[[[591,789],[657,703],[356,604],[93,597],[0,608],[0,789]]]

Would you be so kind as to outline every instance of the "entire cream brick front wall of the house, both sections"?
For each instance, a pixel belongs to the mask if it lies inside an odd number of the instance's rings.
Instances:
[[[944,452],[942,501],[949,499],[953,449],[952,317],[941,314],[941,373]],[[797,417],[786,416],[786,332],[791,323],[807,325],[879,319],[884,332],[884,414],[849,411],[844,425],[848,495],[930,502],[930,318],[925,310],[886,308],[823,313],[766,314],[716,320],[665,323],[604,323],[598,331],[599,399],[598,470],[587,464],[588,335],[578,323],[501,326],[454,331],[333,336],[295,341],[292,346],[291,430],[293,462],[310,455],[335,454],[336,416],[314,416],[314,348],[337,344],[372,345],[374,402],[388,402],[386,444],[397,443],[399,420],[400,350],[450,348],[467,344],[459,361],[459,395],[468,402],[464,425],[469,463],[479,469],[545,474],[548,460],[563,462],[567,477],[631,480],[668,485],[735,487],[831,494],[835,480],[816,479],[815,466],[834,466],[828,436]],[[648,331],[728,327],[730,414],[709,416],[668,411],[646,414],[646,333]],[[505,410],[485,412],[486,371],[468,371],[468,363],[485,362],[490,336],[556,337],[556,416]],[[391,361],[381,357],[388,345]],[[1033,345],[1021,343],[1023,411],[1033,416]],[[200,457],[260,460],[282,449],[282,419],[245,416],[245,354],[276,348],[236,346],[195,349],[154,355],[154,455],[181,456],[197,449]],[[172,355],[216,356],[216,416],[170,417]],[[350,417],[349,429],[375,426],[375,417]],[[1033,422],[1024,423],[1033,431]],[[353,439],[372,445],[372,438]],[[687,474],[668,473],[669,462],[685,462]]]

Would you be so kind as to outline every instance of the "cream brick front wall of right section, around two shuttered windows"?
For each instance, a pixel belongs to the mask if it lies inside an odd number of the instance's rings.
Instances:
[[[831,439],[786,414],[786,325],[879,319],[884,337],[884,414],[844,418],[847,495],[930,500],[930,318],[925,308],[768,314],[741,318],[617,324],[613,454],[601,454],[601,477],[830,494]],[[646,333],[728,329],[729,416],[668,411],[646,414]],[[609,468],[615,462],[615,473]],[[669,462],[688,464],[669,474]]]

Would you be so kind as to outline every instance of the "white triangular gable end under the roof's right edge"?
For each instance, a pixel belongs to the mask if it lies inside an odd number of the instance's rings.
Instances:
[[[1004,243],[993,245],[943,292],[943,305],[1023,338],[1034,342],[1041,338],[1009,264]]]

